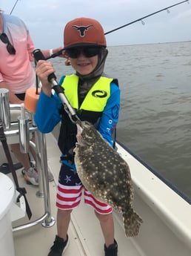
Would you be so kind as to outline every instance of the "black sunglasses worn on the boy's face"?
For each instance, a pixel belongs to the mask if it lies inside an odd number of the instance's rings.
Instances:
[[[98,55],[101,53],[101,47],[74,47],[66,50],[67,56],[72,59],[78,58],[81,53],[87,58],[91,58],[93,56]]]

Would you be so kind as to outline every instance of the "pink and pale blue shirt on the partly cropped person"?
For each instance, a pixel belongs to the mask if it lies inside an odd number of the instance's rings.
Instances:
[[[16,16],[0,14],[3,32],[15,47],[16,54],[7,52],[7,45],[0,40],[0,82],[4,81],[13,93],[24,93],[27,88],[35,86],[35,70],[31,65],[34,50],[29,31],[21,19]]]

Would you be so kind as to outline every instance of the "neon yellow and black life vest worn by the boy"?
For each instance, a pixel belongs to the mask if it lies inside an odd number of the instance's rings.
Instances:
[[[110,97],[110,83],[112,81],[113,79],[111,78],[101,76],[90,88],[80,107],[78,107],[78,76],[65,76],[61,87],[64,88],[64,94],[70,105],[76,109],[78,117],[82,121],[87,120],[96,126],[107,104],[107,99]],[[71,122],[63,106],[60,113],[61,129],[58,137],[58,146],[62,154],[68,158],[73,158],[73,154],[71,155],[70,152],[73,151],[71,149],[76,145],[76,124]]]

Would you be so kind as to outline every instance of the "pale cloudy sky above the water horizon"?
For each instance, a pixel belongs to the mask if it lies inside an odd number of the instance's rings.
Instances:
[[[97,19],[106,33],[178,2],[181,0],[0,0],[0,9],[9,14],[13,10],[11,15],[24,21],[35,46],[49,49],[63,46],[64,26],[71,19]],[[191,41],[191,3],[156,13],[143,22],[108,34],[107,46]]]

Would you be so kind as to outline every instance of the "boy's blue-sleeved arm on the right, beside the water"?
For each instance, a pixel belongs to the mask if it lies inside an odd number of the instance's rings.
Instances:
[[[107,105],[101,116],[98,131],[104,137],[104,140],[113,145],[113,131],[118,123],[118,114],[120,108],[120,90],[117,85],[111,83],[111,95],[107,100]]]

